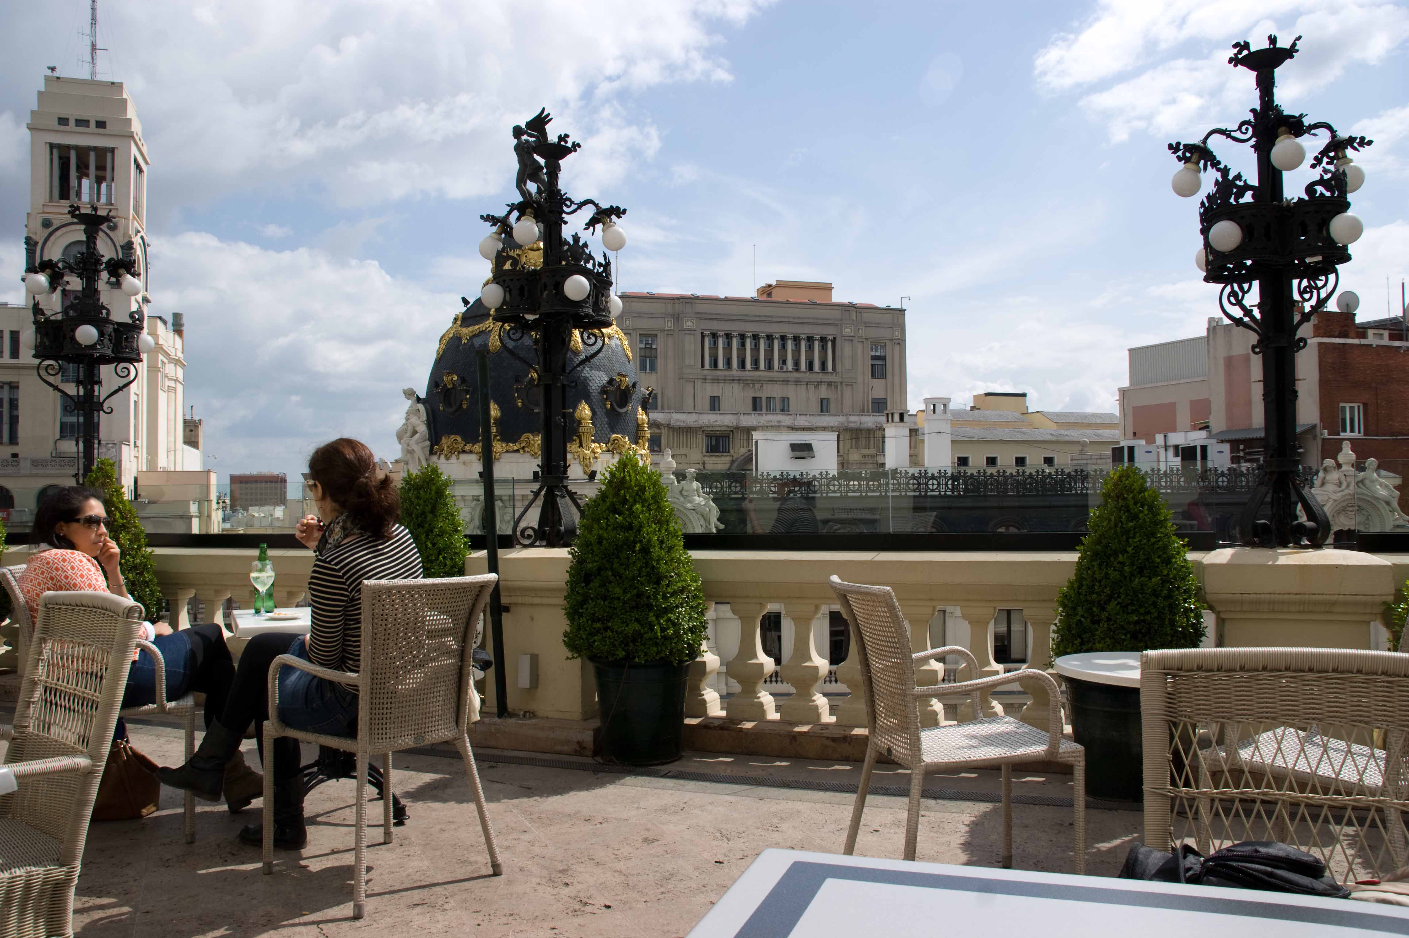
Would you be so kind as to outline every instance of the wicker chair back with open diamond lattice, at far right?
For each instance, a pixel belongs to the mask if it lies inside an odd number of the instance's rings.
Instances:
[[[1284,841],[1340,880],[1409,863],[1409,655],[1153,651],[1140,693],[1151,846]]]

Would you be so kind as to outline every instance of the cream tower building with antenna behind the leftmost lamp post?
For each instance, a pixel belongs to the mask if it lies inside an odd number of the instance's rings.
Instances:
[[[123,83],[46,75],[28,130],[25,268],[83,248],[82,227],[68,214],[70,204],[83,201],[113,213],[100,232],[99,251],[137,258],[147,286],[147,144]],[[10,270],[8,276],[18,279],[21,270]],[[68,286],[76,287],[76,282]],[[101,286],[103,303],[114,317],[128,315],[134,304],[145,308],[151,303],[145,292],[128,297],[116,284]],[[46,311],[56,311],[69,296],[69,289],[61,289],[38,301]],[[31,330],[30,306],[0,303],[0,511],[15,531],[28,528],[46,489],[73,484],[77,468],[77,415],[39,380],[27,341]],[[149,482],[152,492],[159,492],[162,476],[152,473],[203,470],[200,421],[185,414],[182,314],[148,314],[147,334],[155,346],[137,366],[137,379],[108,401],[113,413],[101,418],[99,455],[113,459],[130,489],[142,473],[138,489]],[[76,370],[65,368],[59,375],[59,383],[70,390],[77,387],[75,380]],[[104,393],[116,383],[113,369],[103,369]],[[213,492],[214,473],[210,476],[209,487],[204,477],[192,484]],[[138,513],[142,510],[139,503]],[[210,507],[200,506],[189,521],[193,530],[203,530],[211,517]],[[186,530],[185,514],[182,518],[179,530]]]

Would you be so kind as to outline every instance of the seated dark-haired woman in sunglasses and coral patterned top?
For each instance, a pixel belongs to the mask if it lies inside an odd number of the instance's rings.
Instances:
[[[107,534],[103,494],[86,486],[68,486],[49,494],[34,515],[32,554],[20,575],[20,594],[30,621],[39,615],[39,597],[59,590],[93,590],[123,599],[127,584],[118,563],[123,552]],[[106,577],[104,577],[106,573]],[[151,614],[151,610],[148,610]],[[224,711],[235,665],[220,625],[193,625],[179,632],[166,623],[142,623],[142,638],[156,645],[166,665],[166,700],[199,690],[206,694],[206,728]],[[156,703],[156,662],[138,651],[127,673],[123,707]],[[118,721],[117,738],[127,728]],[[224,796],[230,813],[242,810],[263,794],[263,777],[245,765],[238,749],[224,763]]]

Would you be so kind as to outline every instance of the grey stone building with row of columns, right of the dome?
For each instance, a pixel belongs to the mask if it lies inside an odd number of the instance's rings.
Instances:
[[[752,297],[623,293],[617,320],[655,389],[651,445],[681,469],[748,468],[755,430],[838,434],[841,469],[885,465],[906,407],[905,310],[778,280]]]

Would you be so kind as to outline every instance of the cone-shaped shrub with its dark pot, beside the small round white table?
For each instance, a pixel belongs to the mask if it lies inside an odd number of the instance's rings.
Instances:
[[[1057,593],[1053,658],[1196,648],[1203,603],[1169,508],[1144,473],[1122,466],[1100,487],[1076,570]],[[1062,672],[1061,662],[1057,663]],[[1143,800],[1140,686],[1062,675],[1071,731],[1086,746],[1092,797]]]

